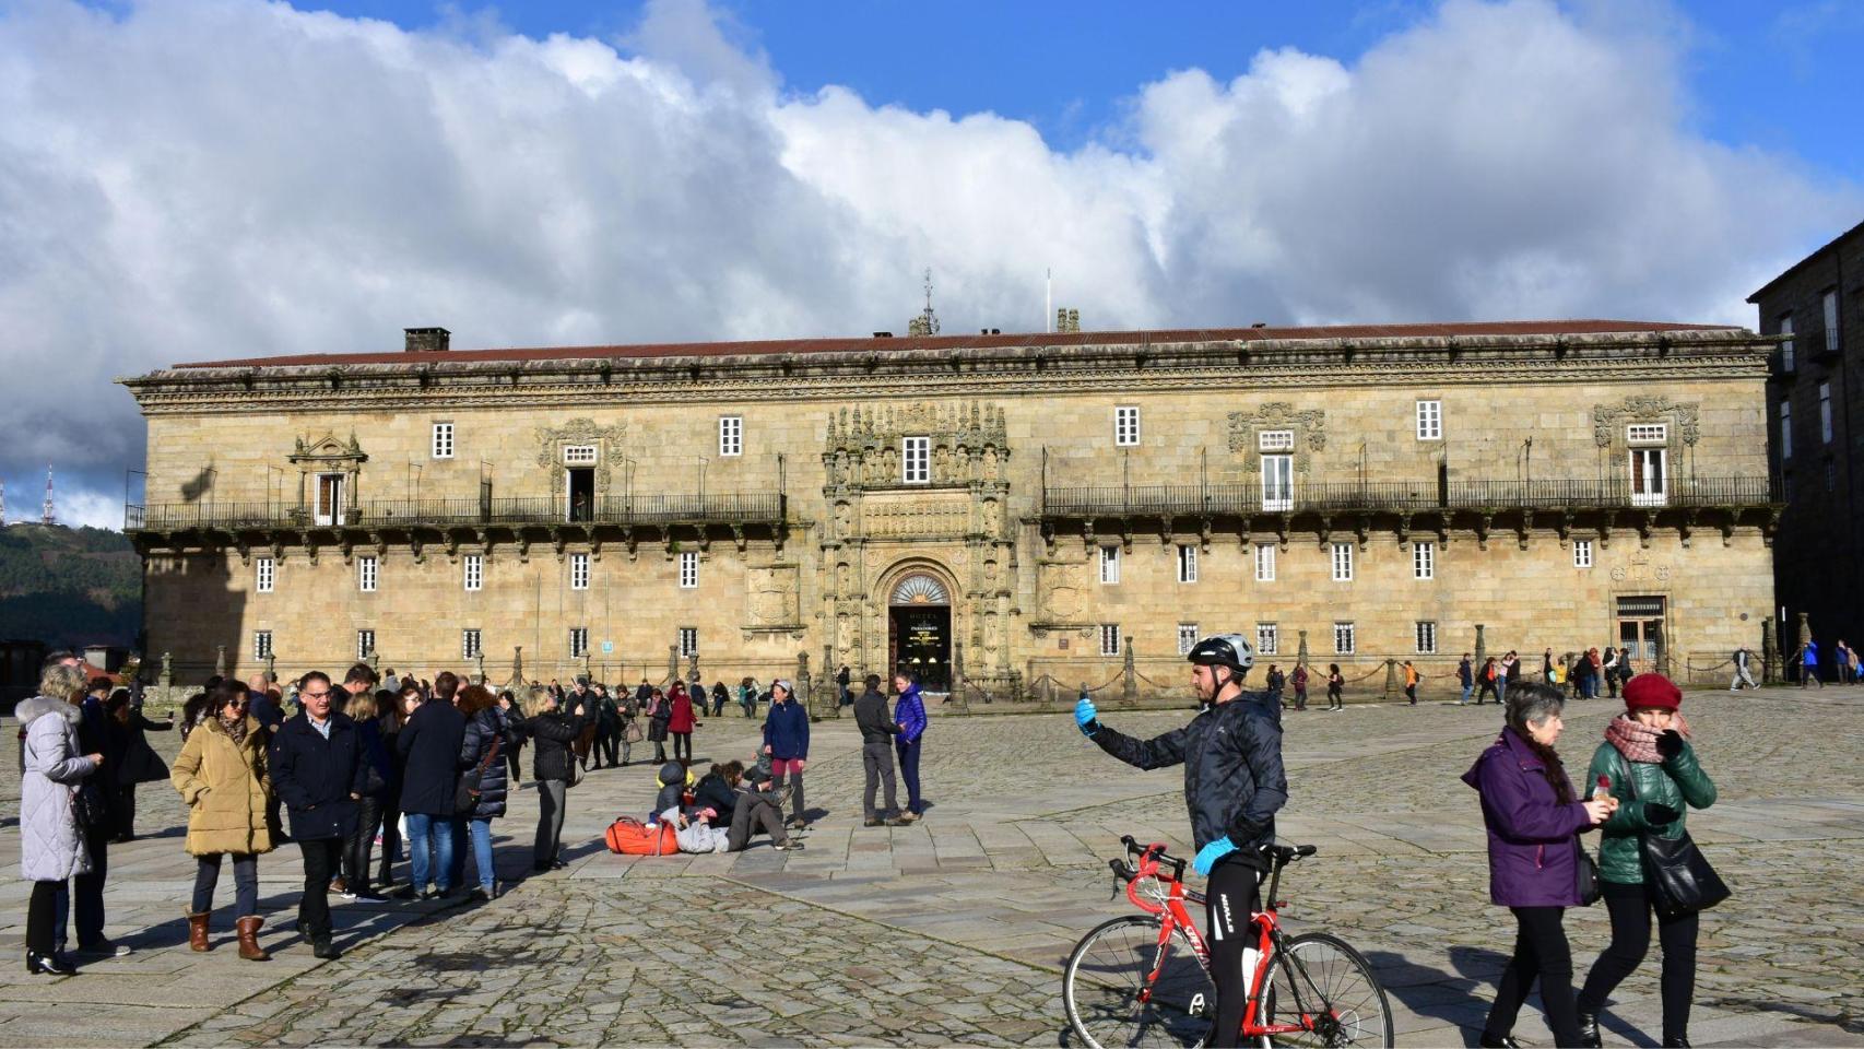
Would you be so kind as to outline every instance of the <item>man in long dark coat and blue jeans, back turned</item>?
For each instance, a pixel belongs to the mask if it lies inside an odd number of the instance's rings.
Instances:
[[[414,708],[395,736],[403,756],[401,811],[408,816],[408,851],[414,868],[401,898],[445,896],[453,891],[453,796],[459,788],[460,745],[466,742],[466,715],[453,706],[460,680],[451,671],[434,678],[434,695]],[[429,863],[432,842],[432,863]],[[432,879],[432,887],[429,887]]]

